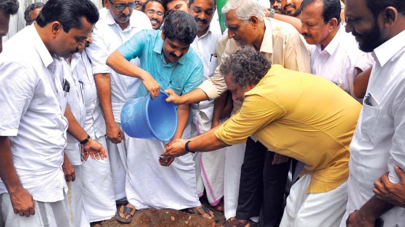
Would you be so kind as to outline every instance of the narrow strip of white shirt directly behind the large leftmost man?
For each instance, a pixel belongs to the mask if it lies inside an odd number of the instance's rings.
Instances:
[[[76,56],[73,55],[73,56]],[[70,83],[69,97],[67,98],[67,104],[72,111],[74,118],[77,123],[79,123],[82,128],[85,128],[86,123],[86,107],[83,98],[84,87],[79,82],[77,78],[77,73],[73,73],[77,62],[71,61],[71,64],[64,61],[64,66],[69,70],[69,77],[66,80]],[[72,165],[78,166],[82,165],[81,155],[80,155],[80,143],[72,135],[67,133],[67,144],[64,152]]]

